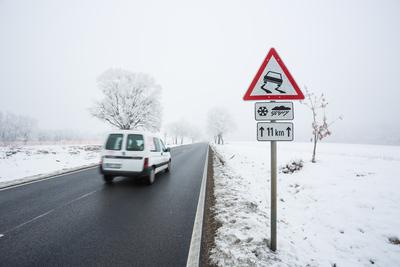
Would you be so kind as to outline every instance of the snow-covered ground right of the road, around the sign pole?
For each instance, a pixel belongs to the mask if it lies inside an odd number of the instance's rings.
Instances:
[[[219,266],[400,266],[400,147],[278,142],[278,251],[270,236],[269,143],[214,146]],[[221,163],[222,162],[224,164]]]

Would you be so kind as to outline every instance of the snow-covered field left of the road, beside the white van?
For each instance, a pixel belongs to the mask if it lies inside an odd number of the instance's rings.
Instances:
[[[98,145],[0,147],[0,187],[99,163]]]

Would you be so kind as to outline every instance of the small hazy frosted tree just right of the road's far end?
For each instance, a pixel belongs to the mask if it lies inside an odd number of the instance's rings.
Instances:
[[[208,112],[207,130],[215,143],[224,144],[224,135],[234,128],[235,124],[226,109],[215,107]]]

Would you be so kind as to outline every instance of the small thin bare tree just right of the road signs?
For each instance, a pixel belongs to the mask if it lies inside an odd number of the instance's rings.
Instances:
[[[334,124],[337,120],[342,120],[343,117],[339,116],[337,119],[328,122],[326,117],[326,106],[328,102],[324,96],[321,94],[319,97],[316,96],[313,92],[310,92],[307,87],[305,87],[305,100],[301,101],[303,105],[308,107],[312,112],[313,122],[312,122],[312,138],[311,141],[314,143],[313,154],[311,162],[316,162],[316,151],[317,151],[317,143],[321,141],[325,137],[332,135],[332,132],[329,130],[329,127]],[[322,114],[322,119],[320,118]]]

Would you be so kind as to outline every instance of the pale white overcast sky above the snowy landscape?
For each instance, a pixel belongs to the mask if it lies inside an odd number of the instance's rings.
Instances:
[[[231,112],[234,140],[255,140],[242,97],[271,47],[302,88],[325,93],[331,141],[400,144],[400,1],[0,0],[0,110],[41,128],[102,131],[88,108],[110,67],[151,74],[164,122],[203,127]],[[295,136],[311,132],[295,105]]]

